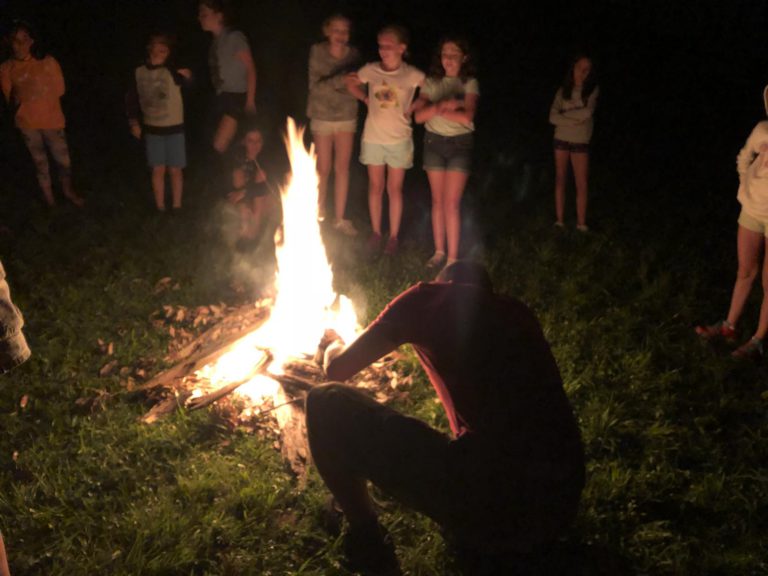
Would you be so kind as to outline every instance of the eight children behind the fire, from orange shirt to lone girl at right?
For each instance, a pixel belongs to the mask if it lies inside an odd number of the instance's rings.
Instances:
[[[215,89],[212,148],[223,157],[243,122],[256,110],[256,67],[242,32],[230,27],[224,0],[200,0],[198,20],[213,41],[208,64]],[[385,255],[399,246],[403,214],[405,172],[413,165],[412,120],[425,125],[424,169],[432,194],[434,253],[429,267],[441,267],[458,258],[461,238],[460,205],[471,170],[474,116],[479,86],[474,77],[471,50],[460,37],[447,37],[435,51],[427,77],[408,64],[408,33],[397,25],[382,28],[377,36],[380,60],[361,65],[359,51],[349,44],[350,21],[334,15],[323,24],[324,42],[309,55],[307,116],[317,151],[318,213],[325,218],[331,170],[334,172],[333,227],[357,234],[345,218],[349,194],[349,167],[357,130],[357,102],[367,107],[362,131],[360,162],[368,171],[368,209],[371,235],[369,254],[383,246]],[[49,205],[55,203],[48,153],[57,164],[61,189],[77,206],[83,199],[73,190],[70,159],[59,98],[64,93],[61,69],[51,56],[36,52],[31,28],[18,24],[11,34],[13,58],[0,66],[3,93],[15,122],[35,161],[37,178]],[[156,34],[147,44],[146,61],[134,71],[128,100],[131,133],[144,140],[151,169],[155,206],[166,209],[166,177],[170,179],[171,207],[182,206],[187,164],[182,86],[191,73],[173,66],[173,39]],[[572,62],[550,110],[555,125],[555,212],[564,226],[568,166],[576,184],[577,229],[586,231],[589,140],[598,88],[592,62],[579,56]],[[258,143],[257,143],[258,141]],[[263,134],[247,132],[242,152],[229,171],[228,200],[241,214],[241,235],[258,234],[265,211],[266,175],[257,156]],[[47,149],[47,151],[46,151]],[[246,156],[248,158],[246,158]],[[247,160],[247,161],[246,161]],[[223,166],[224,162],[219,162]],[[382,229],[384,193],[388,198],[389,230]]]

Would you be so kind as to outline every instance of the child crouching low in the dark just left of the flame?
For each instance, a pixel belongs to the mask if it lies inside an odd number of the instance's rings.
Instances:
[[[264,136],[259,128],[250,128],[242,140],[242,150],[235,156],[231,188],[227,201],[239,214],[238,238],[258,239],[271,213],[267,174],[259,163]]]

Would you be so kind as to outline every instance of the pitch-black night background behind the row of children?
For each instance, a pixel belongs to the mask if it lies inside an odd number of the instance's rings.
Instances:
[[[735,213],[734,157],[765,115],[768,8],[762,2],[265,0],[234,7],[257,63],[260,114],[275,127],[286,114],[305,120],[306,56],[322,19],[334,11],[351,17],[353,43],[370,60],[376,30],[390,21],[411,30],[411,61],[423,68],[444,32],[466,33],[476,47],[482,90],[479,167],[506,149],[547,167],[551,99],[569,55],[588,50],[601,87],[593,166],[621,173],[628,184],[621,191],[595,189],[597,196],[641,194],[650,201],[684,177],[688,184],[674,192],[681,200],[715,195]],[[180,63],[196,72],[186,94],[188,142],[193,151],[207,145],[201,119],[210,91],[209,38],[193,0],[0,2],[5,27],[18,17],[37,26],[63,67],[75,179],[92,200],[109,196],[104,187],[114,172],[141,169],[141,151],[125,128],[123,94],[152,31],[176,33]],[[3,121],[7,129],[8,117]],[[21,156],[15,166],[27,161],[25,152],[13,149]],[[192,170],[194,162],[193,156]],[[14,179],[18,194],[34,184],[31,174]]]

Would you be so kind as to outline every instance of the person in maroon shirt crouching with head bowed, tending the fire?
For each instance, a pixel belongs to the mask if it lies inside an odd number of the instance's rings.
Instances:
[[[406,343],[452,437],[342,384],[307,398],[310,449],[347,518],[350,567],[400,573],[370,480],[439,523],[467,573],[500,573],[492,564],[505,554],[536,553],[563,534],[584,486],[580,434],[554,357],[533,313],[462,261],[400,294],[346,349],[329,347],[328,378],[344,381]]]

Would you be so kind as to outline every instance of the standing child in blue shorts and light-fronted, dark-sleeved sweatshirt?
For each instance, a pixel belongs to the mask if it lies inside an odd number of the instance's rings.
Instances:
[[[190,78],[191,72],[170,66],[171,47],[169,36],[150,37],[147,61],[136,68],[135,84],[126,97],[131,134],[136,139],[144,135],[155,207],[160,212],[165,211],[166,170],[171,179],[173,209],[181,208],[183,170],[187,164],[181,83],[182,79]]]

